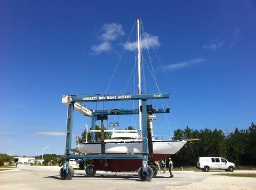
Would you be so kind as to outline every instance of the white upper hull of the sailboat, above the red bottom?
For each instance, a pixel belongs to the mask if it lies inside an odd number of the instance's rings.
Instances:
[[[142,141],[141,140],[111,140],[105,141],[106,154],[141,154]],[[186,140],[180,141],[153,141],[154,154],[175,154],[183,145],[187,143]],[[76,148],[79,152],[85,154],[100,154],[101,143],[77,143]]]

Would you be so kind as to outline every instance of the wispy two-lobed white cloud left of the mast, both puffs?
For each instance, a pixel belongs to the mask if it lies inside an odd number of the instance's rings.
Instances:
[[[95,54],[100,54],[102,52],[107,52],[112,49],[110,41],[116,40],[119,36],[125,34],[123,27],[118,23],[104,24],[101,27],[102,33],[98,36],[102,42],[99,45],[93,45],[91,50]]]

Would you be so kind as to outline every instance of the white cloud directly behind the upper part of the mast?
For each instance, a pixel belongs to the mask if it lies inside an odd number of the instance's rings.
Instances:
[[[137,48],[137,41],[128,42],[125,46],[125,49],[133,51],[135,48]],[[156,48],[160,46],[159,38],[158,36],[152,36],[151,34],[146,33],[145,38],[141,39],[140,42],[141,48]]]

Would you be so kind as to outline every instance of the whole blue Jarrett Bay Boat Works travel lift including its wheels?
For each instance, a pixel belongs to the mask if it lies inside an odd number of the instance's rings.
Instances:
[[[153,163],[153,144],[152,134],[150,130],[150,118],[151,114],[170,113],[170,108],[167,109],[154,109],[151,105],[147,105],[148,99],[166,99],[169,98],[169,94],[123,94],[123,95],[108,95],[103,96],[89,95],[66,95],[62,97],[62,103],[68,106],[67,114],[67,128],[66,128],[66,150],[65,158],[66,163],[60,169],[61,179],[71,179],[74,175],[74,169],[69,166],[69,159],[75,159],[77,162],[82,162],[90,159],[141,159],[142,167],[139,172],[139,178],[141,181],[149,181],[153,177],[153,172],[148,166],[148,152],[150,154],[150,163]],[[83,105],[81,102],[98,102],[98,101],[123,101],[123,100],[142,100],[142,106],[139,109],[111,109],[111,110],[91,110],[90,108]],[[73,129],[73,114],[74,110],[84,116],[92,118],[91,122],[91,142],[94,142],[95,122],[101,120],[101,154],[89,154],[89,155],[74,155],[70,153],[71,141],[72,141],[72,129]],[[142,112],[142,154],[105,154],[105,142],[104,142],[104,130],[103,120],[108,119],[108,115],[129,115],[139,114]],[[111,130],[108,130],[111,131]],[[128,131],[127,131],[128,132]],[[150,171],[149,171],[150,170]]]

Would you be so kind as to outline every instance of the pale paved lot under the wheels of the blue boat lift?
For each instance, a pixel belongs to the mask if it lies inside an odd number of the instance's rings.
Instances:
[[[97,171],[95,176],[87,176],[82,170],[75,170],[71,180],[61,180],[60,167],[27,166],[0,172],[0,189],[175,189],[177,186],[202,182],[212,172],[174,171],[159,173],[151,182],[141,182],[137,173]]]

